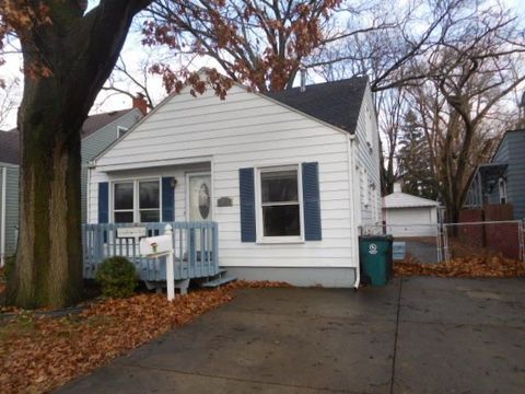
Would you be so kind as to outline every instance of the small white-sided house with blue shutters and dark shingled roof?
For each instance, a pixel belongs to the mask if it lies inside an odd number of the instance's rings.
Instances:
[[[358,227],[381,221],[370,85],[352,78],[265,95],[234,84],[225,100],[183,89],[96,158],[90,179],[88,222],[101,229],[213,221],[231,275],[357,286]]]

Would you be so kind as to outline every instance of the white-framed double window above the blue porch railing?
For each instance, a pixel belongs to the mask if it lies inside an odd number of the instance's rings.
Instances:
[[[115,223],[159,222],[161,188],[159,179],[115,182],[113,219]]]

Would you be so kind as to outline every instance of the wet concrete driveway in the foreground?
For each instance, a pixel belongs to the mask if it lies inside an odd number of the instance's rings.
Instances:
[[[525,280],[248,289],[62,393],[523,393]]]

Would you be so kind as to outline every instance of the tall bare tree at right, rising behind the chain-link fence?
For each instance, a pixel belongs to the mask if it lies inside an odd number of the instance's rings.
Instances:
[[[505,99],[525,82],[520,21],[497,7],[464,13],[448,37],[415,68],[425,80],[408,88],[415,124],[427,140],[433,187],[457,222],[472,174],[509,127]]]

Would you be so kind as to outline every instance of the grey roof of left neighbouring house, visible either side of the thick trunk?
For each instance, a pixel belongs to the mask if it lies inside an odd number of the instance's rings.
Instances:
[[[82,138],[85,138],[96,130],[109,125],[112,121],[126,115],[133,108],[113,111],[105,114],[91,115],[82,125]],[[0,162],[19,164],[20,140],[19,130],[0,131]]]

